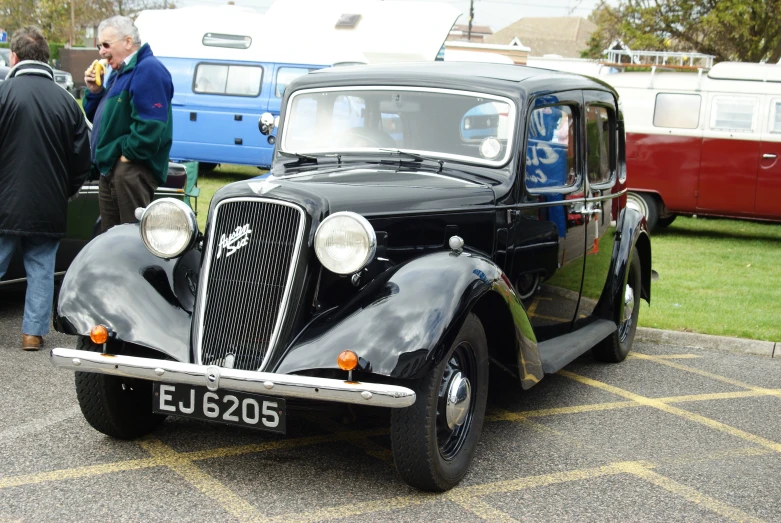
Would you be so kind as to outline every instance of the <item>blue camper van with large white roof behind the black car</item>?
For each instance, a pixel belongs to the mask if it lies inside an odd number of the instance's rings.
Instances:
[[[141,39],[174,81],[171,159],[197,160],[201,170],[220,163],[269,167],[276,136],[260,134],[258,120],[279,116],[294,78],[346,62],[434,60],[461,12],[424,2],[410,17],[409,6],[285,0],[265,14],[235,5],[141,11]],[[398,134],[400,122],[383,124]]]

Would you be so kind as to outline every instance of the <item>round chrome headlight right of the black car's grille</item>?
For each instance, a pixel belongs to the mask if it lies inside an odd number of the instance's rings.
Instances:
[[[323,220],[315,233],[320,263],[336,274],[360,271],[374,258],[377,236],[366,219],[354,212],[337,212]]]

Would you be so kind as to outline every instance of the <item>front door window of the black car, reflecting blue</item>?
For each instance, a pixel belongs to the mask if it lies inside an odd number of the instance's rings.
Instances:
[[[526,144],[526,187],[572,186],[575,176],[575,121],[566,105],[539,107],[529,119]]]

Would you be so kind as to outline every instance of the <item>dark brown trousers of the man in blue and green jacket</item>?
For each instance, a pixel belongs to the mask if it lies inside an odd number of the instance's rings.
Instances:
[[[102,231],[120,223],[135,223],[137,207],[152,201],[159,182],[146,166],[117,160],[106,176],[100,177],[98,202]]]

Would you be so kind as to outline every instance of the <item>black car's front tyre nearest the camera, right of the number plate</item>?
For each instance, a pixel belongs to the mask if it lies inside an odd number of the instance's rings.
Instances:
[[[446,393],[458,382],[459,373],[469,380],[468,408],[460,424],[448,427]],[[404,481],[421,490],[444,492],[469,470],[483,429],[488,344],[477,316],[467,317],[446,357],[413,387],[415,404],[391,412],[393,458]]]

